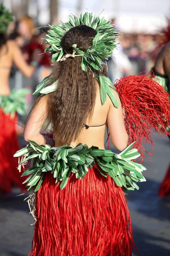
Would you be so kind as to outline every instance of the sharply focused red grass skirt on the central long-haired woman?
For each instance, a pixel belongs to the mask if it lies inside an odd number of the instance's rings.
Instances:
[[[66,187],[47,173],[36,196],[30,256],[131,256],[134,242],[121,187],[95,167]]]

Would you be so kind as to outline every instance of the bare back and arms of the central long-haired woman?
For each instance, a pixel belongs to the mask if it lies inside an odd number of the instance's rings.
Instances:
[[[86,125],[96,126],[83,128],[81,134],[75,141],[72,141],[70,144],[76,146],[79,143],[87,144],[89,147],[95,145],[99,148],[105,148],[105,122],[108,122],[108,128],[110,131],[111,141],[113,145],[122,151],[128,142],[128,135],[125,129],[124,118],[122,113],[122,105],[119,99],[118,94],[113,90],[113,94],[116,97],[116,100],[119,104],[119,108],[115,108],[109,96],[104,105],[101,103],[99,84],[96,82],[96,101],[94,106],[94,113],[91,120],[86,120]],[[38,102],[37,106],[31,112],[31,116],[28,119],[28,122],[24,131],[24,139],[34,140],[37,144],[50,144],[54,145],[54,142],[49,138],[45,138],[40,134],[45,119],[48,117],[48,97],[50,95],[43,96]],[[56,109],[57,111],[57,109]],[[102,125],[102,126],[99,126]],[[71,129],[71,127],[70,127]],[[63,143],[55,138],[55,146],[62,146]]]

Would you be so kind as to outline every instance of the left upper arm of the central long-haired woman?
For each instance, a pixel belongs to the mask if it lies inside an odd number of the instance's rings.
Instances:
[[[32,140],[32,138],[36,138],[40,134],[42,125],[48,117],[47,103],[48,95],[42,96],[33,108],[24,129],[25,140]]]

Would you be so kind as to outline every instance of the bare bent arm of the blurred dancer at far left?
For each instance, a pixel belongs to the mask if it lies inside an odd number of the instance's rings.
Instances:
[[[34,73],[35,67],[27,64],[20,48],[15,44],[15,42],[10,41],[10,44],[15,66],[23,73],[24,76],[30,77]]]

